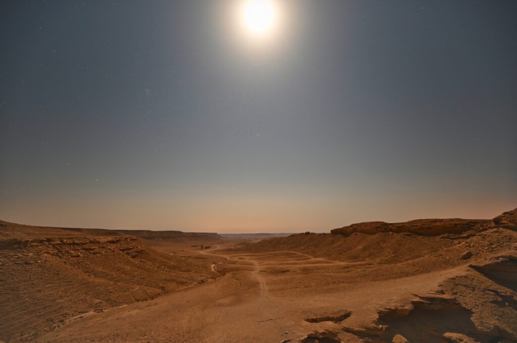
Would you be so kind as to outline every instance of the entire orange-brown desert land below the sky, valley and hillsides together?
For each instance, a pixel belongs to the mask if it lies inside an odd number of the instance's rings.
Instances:
[[[249,242],[0,222],[4,342],[514,342],[517,213]]]

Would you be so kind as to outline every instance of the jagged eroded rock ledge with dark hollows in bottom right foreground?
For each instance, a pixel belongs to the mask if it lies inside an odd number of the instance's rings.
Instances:
[[[495,291],[492,289],[491,291]],[[461,295],[463,298],[464,295]],[[486,298],[486,297],[485,297]],[[508,298],[512,298],[508,296]],[[476,307],[470,307],[479,299],[459,301],[451,295],[417,297],[409,306],[389,308],[378,312],[376,323],[370,327],[343,326],[342,330],[353,333],[363,341],[392,341],[393,343],[431,342],[499,342],[503,339],[515,341],[515,324],[500,323],[494,317],[505,316],[514,311],[509,305],[506,311],[484,313],[478,317]],[[402,304],[401,304],[402,306]],[[473,312],[474,311],[474,312]],[[506,313],[505,313],[506,312]],[[497,314],[497,315],[496,315]],[[490,318],[491,320],[486,320]]]

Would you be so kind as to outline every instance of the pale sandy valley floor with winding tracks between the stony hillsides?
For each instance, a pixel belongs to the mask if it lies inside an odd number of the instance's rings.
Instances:
[[[204,256],[207,268],[219,273],[210,282],[75,319],[36,341],[240,343],[278,342],[287,338],[296,341],[313,330],[341,331],[338,324],[331,322],[305,321],[307,311],[348,309],[357,314],[356,320],[368,322],[379,308],[408,299],[412,285],[415,291],[435,289],[446,276],[439,272],[409,277],[398,283],[387,281],[385,285],[363,283],[360,287],[350,287],[341,282],[325,286],[325,280],[332,280],[332,273],[342,273],[340,268],[363,268],[361,265],[366,263],[340,262],[296,251],[222,251],[230,247],[218,244],[207,250],[185,252],[192,258]],[[352,337],[347,341],[357,340]]]

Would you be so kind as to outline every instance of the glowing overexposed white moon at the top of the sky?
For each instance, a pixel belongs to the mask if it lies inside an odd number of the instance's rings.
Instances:
[[[274,29],[277,8],[270,0],[248,0],[242,7],[242,20],[254,36],[266,36]]]

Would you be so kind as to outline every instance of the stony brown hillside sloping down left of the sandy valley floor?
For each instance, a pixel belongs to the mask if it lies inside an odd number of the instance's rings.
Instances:
[[[138,237],[0,222],[0,340],[31,341],[214,276],[206,260],[158,252]]]

